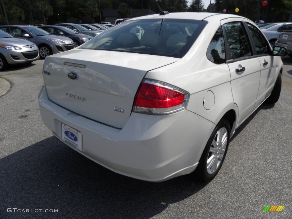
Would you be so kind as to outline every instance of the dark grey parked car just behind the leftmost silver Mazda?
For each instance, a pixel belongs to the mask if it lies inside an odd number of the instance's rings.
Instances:
[[[0,26],[4,30],[14,36],[27,39],[33,42],[39,48],[41,58],[48,55],[64,52],[74,48],[75,44],[72,39],[66,36],[55,36],[37,27],[25,25],[3,25]]]

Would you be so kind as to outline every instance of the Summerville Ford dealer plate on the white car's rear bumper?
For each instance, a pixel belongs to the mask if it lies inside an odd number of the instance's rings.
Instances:
[[[62,123],[61,138],[70,146],[82,151],[82,134],[75,128]]]

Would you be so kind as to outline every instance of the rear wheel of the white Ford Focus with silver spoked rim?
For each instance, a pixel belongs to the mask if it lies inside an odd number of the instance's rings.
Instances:
[[[212,132],[202,153],[195,174],[200,181],[209,182],[219,172],[230,141],[230,125],[221,119]]]

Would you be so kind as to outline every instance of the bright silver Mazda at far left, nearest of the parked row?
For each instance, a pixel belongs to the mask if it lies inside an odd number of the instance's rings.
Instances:
[[[36,44],[0,30],[0,71],[8,65],[30,63],[39,59]]]

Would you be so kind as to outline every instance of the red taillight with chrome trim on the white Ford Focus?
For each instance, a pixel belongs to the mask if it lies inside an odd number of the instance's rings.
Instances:
[[[188,94],[178,88],[154,81],[144,81],[135,101],[134,112],[166,114],[184,109]]]

